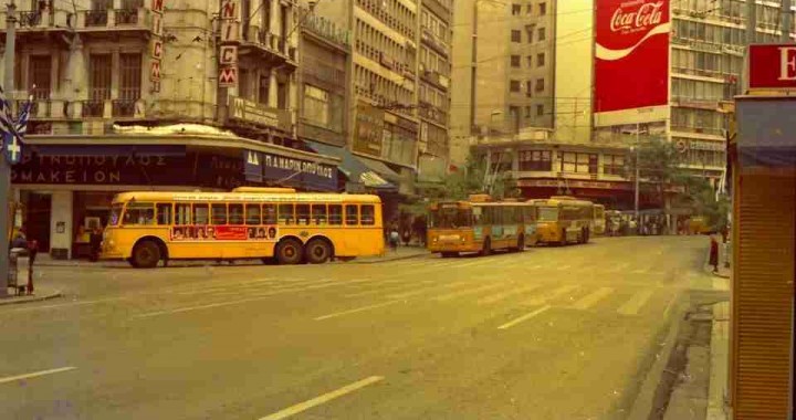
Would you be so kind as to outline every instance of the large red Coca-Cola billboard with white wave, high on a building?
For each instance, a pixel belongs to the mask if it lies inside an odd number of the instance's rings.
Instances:
[[[597,0],[596,113],[669,101],[669,0]]]

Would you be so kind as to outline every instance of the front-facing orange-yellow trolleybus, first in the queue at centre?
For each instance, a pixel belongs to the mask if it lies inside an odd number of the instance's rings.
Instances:
[[[534,208],[526,202],[490,201],[471,196],[469,201],[444,201],[429,208],[428,249],[443,258],[460,252],[489,255],[494,250],[523,251],[536,237]]]

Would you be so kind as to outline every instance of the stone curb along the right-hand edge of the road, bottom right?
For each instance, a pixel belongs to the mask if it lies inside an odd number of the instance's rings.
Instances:
[[[658,385],[660,384],[663,374],[666,372],[667,365],[669,364],[669,356],[671,355],[677,336],[680,333],[680,317],[682,315],[682,301],[683,292],[680,291],[672,301],[672,308],[667,317],[667,323],[670,323],[669,330],[664,336],[664,344],[657,350],[659,355],[650,366],[647,375],[641,384],[636,400],[630,408],[630,412],[627,417],[628,420],[647,420],[650,418],[652,407],[654,405],[656,395],[658,393]],[[663,334],[661,334],[663,336]]]

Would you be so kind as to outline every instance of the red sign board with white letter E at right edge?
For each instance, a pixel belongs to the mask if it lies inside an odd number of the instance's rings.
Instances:
[[[750,45],[750,88],[796,88],[796,44]]]

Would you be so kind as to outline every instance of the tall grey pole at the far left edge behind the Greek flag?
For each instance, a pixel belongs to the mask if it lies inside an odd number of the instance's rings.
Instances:
[[[3,88],[7,95],[13,95],[14,56],[17,53],[17,4],[11,0],[6,4],[6,80]],[[9,98],[9,102],[12,98]],[[11,165],[6,154],[0,157],[0,297],[8,295],[9,272],[9,203],[11,202]]]

